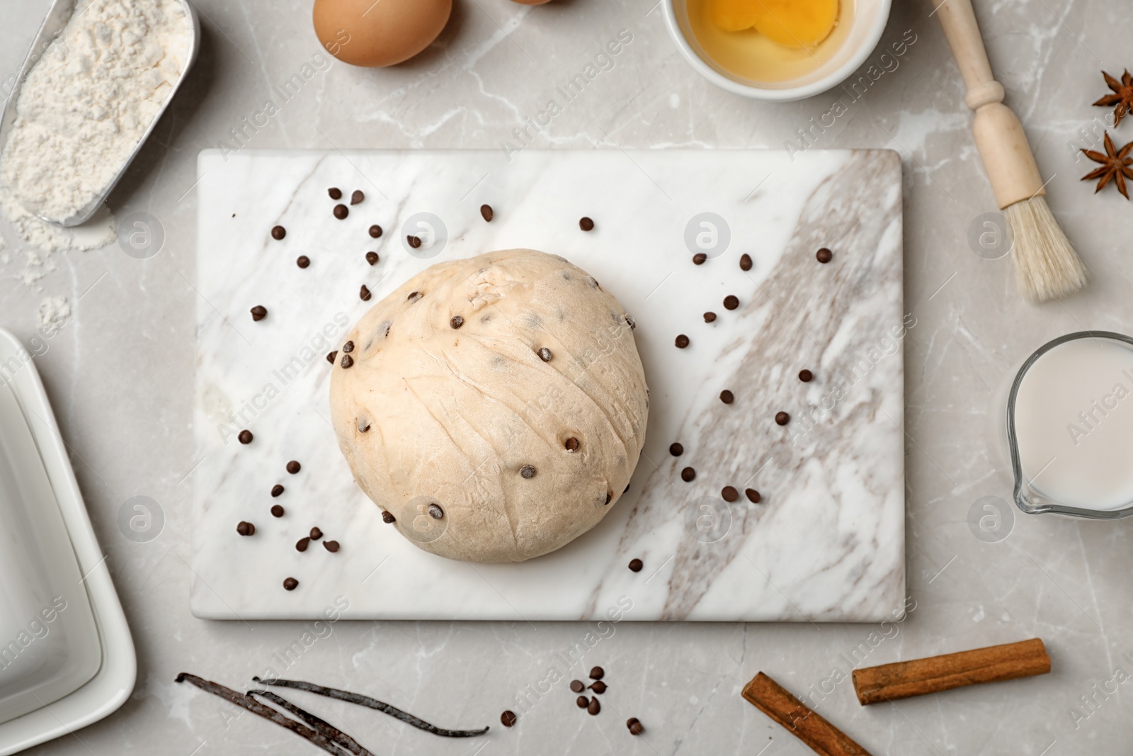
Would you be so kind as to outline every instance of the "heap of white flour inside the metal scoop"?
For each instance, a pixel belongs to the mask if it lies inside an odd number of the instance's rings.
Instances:
[[[189,23],[176,0],[78,3],[24,82],[0,156],[19,203],[65,220],[102,195],[185,69]]]

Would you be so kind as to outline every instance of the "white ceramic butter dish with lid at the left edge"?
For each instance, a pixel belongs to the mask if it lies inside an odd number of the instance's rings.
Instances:
[[[0,609],[6,615],[0,618],[0,630],[6,635],[0,636],[0,644],[8,647],[17,642],[20,651],[11,652],[22,660],[17,663],[37,662],[41,668],[28,671],[10,665],[20,679],[12,676],[7,685],[0,670],[0,720],[6,713],[16,714],[0,723],[0,756],[6,756],[74,732],[117,710],[134,688],[137,663],[126,617],[32,355],[2,329],[0,423],[0,455],[7,460],[0,464],[0,476],[7,481],[0,483],[0,519],[6,527],[22,528],[5,534],[12,543],[2,542]],[[28,493],[34,502],[23,503],[33,506],[18,507],[15,500]],[[42,511],[52,507],[57,512]],[[16,557],[15,544],[27,553]],[[33,559],[41,559],[43,566],[32,564]],[[62,610],[52,606],[57,595],[67,602]],[[46,605],[41,606],[44,601]],[[49,606],[56,610],[50,621],[51,612],[42,613]],[[9,617],[9,610],[16,613]],[[36,618],[40,625],[33,627]],[[23,645],[16,626],[28,632]],[[16,634],[11,638],[9,630]],[[28,696],[20,693],[25,690],[44,705],[24,711]]]

